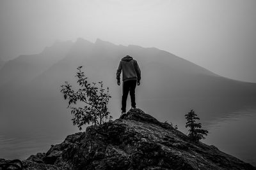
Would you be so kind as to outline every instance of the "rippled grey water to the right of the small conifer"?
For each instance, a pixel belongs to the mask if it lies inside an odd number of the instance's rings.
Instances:
[[[256,108],[244,108],[207,124],[209,135],[204,140],[222,152],[256,166]]]

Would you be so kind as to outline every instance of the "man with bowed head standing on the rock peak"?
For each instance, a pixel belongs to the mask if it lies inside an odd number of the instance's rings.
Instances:
[[[123,117],[126,114],[126,100],[129,92],[131,96],[132,109],[136,108],[135,87],[136,87],[136,84],[140,85],[140,79],[141,79],[140,67],[137,61],[132,59],[132,57],[129,55],[122,58],[118,66],[118,69],[116,71],[116,79],[117,79],[118,85],[120,85],[120,74],[122,71],[123,71],[123,74],[122,74],[123,96],[122,96],[121,117]]]

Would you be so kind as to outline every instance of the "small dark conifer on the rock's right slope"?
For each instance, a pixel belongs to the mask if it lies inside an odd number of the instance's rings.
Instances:
[[[207,136],[208,131],[201,129],[201,123],[196,123],[196,119],[200,120],[199,117],[195,114],[195,111],[191,110],[188,114],[185,115],[188,122],[186,122],[186,127],[189,127],[189,138],[191,141],[198,142],[200,139],[205,139],[204,135]]]

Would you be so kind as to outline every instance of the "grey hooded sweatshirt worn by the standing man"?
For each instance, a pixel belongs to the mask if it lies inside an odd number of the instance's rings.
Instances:
[[[127,55],[119,63],[116,71],[116,79],[120,80],[120,74],[123,71],[123,81],[138,80],[140,81],[140,67],[136,60],[132,59],[131,56]]]

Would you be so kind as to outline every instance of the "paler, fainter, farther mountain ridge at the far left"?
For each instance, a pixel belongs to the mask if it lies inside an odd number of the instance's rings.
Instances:
[[[35,55],[20,55],[9,60],[0,71],[0,86],[6,85],[19,87],[28,83],[33,78],[43,73],[55,62],[65,57],[69,51],[71,41],[56,42],[51,47],[46,47],[42,53]]]

